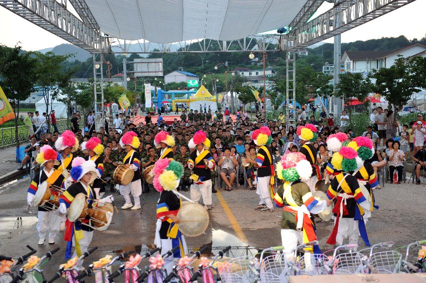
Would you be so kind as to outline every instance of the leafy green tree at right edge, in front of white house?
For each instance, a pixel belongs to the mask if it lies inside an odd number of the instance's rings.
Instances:
[[[374,92],[393,105],[396,119],[396,112],[402,109],[411,94],[426,87],[426,58],[416,56],[406,60],[399,55],[390,67],[373,70],[372,77],[376,79]]]

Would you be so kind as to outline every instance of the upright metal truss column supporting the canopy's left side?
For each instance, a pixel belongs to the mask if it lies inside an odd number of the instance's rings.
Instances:
[[[94,129],[104,125],[104,71],[102,53],[93,53],[93,105],[95,109]]]

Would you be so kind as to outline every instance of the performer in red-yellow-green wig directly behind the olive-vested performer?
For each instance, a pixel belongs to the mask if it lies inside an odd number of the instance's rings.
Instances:
[[[312,176],[306,180],[303,180],[310,188],[311,192],[315,192],[315,184],[321,179],[321,172],[318,165],[316,164],[316,149],[311,141],[316,141],[318,137],[317,129],[313,124],[305,124],[304,126],[298,126],[296,134],[300,138],[300,153],[305,155],[306,160],[311,163]]]

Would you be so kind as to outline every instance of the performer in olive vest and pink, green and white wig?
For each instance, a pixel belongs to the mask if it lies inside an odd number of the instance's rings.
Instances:
[[[284,181],[274,196],[275,205],[283,207],[281,239],[284,253],[290,255],[297,243],[316,240],[311,213],[319,213],[332,201],[317,200],[303,180],[312,175],[312,166],[304,154],[289,152],[277,164],[277,177]],[[319,252],[318,246],[308,247],[307,251]],[[305,253],[306,254],[306,253]]]

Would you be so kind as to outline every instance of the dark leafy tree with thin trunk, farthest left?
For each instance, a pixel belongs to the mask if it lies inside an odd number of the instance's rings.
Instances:
[[[21,46],[14,48],[0,45],[0,85],[5,91],[6,96],[12,99],[15,112],[15,139],[16,146],[19,148],[18,137],[18,118],[19,101],[27,99],[34,91],[36,82],[36,64],[35,58],[30,53],[22,52]]]

